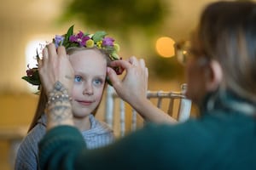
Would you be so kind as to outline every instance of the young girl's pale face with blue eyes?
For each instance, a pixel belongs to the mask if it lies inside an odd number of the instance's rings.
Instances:
[[[98,50],[89,48],[70,55],[74,70],[72,92],[73,116],[88,116],[102,99],[107,72],[107,59]]]

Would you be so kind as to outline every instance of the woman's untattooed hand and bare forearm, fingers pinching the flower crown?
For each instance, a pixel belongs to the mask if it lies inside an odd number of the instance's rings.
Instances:
[[[115,71],[108,68],[108,77],[119,97],[128,102],[145,120],[156,123],[176,122],[147,99],[148,68],[143,59],[131,57],[127,61],[113,61],[110,65],[125,70],[125,77],[120,80]]]

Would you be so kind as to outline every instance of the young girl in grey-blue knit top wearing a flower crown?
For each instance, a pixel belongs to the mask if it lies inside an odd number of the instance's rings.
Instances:
[[[73,26],[71,29],[73,30]],[[69,31],[67,31],[67,35],[64,38],[69,37],[67,41],[69,43],[67,44],[67,54],[69,54],[69,60],[74,71],[73,89],[71,92],[73,121],[75,126],[81,131],[87,147],[94,149],[110,144],[114,139],[113,130],[106,123],[97,121],[94,115],[96,114],[97,107],[100,105],[102,93],[106,85],[108,62],[113,59],[113,56],[110,55],[115,55],[116,48],[114,48],[113,39],[105,37],[104,32],[84,35],[80,31],[77,35],[73,35],[73,33],[68,35],[70,34]],[[57,36],[54,40],[56,47],[60,45],[58,38],[60,39]],[[76,41],[75,38],[77,38]],[[86,40],[87,46],[84,40]],[[84,43],[81,43],[83,41]],[[65,44],[66,42],[61,43]],[[109,53],[106,48],[112,51]],[[33,77],[38,77],[36,75],[38,74],[37,70],[30,71],[32,71],[32,74],[28,74],[28,77],[25,78],[28,82],[31,82],[30,80]],[[39,80],[37,81],[39,82]],[[46,132],[47,119],[44,110],[47,103],[47,94],[43,85],[40,91],[36,114],[26,138],[20,144],[16,156],[15,169],[38,169],[38,142]]]

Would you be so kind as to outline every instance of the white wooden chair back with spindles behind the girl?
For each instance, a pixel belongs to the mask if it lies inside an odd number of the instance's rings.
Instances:
[[[182,84],[179,92],[173,91],[148,91],[148,99],[166,114],[177,119],[178,122],[186,121],[190,116],[191,101],[186,99],[184,93],[186,84]],[[113,87],[107,87],[105,122],[108,123],[116,136],[125,136],[125,133],[143,126],[143,118],[125,103],[116,94]]]

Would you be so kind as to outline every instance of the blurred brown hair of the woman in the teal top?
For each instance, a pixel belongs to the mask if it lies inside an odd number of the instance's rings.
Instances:
[[[221,65],[220,88],[256,103],[256,3],[208,5],[191,41],[192,52]]]

